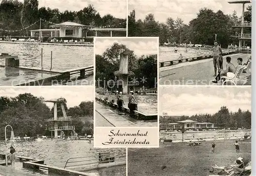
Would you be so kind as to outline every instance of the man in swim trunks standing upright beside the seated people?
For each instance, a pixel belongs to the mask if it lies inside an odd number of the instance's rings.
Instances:
[[[223,69],[222,50],[221,47],[218,45],[217,40],[214,41],[214,47],[212,47],[212,50],[214,51],[214,76],[216,76],[217,68],[218,70]]]

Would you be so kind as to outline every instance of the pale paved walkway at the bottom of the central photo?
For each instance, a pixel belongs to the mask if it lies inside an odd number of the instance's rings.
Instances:
[[[105,105],[95,102],[95,125],[97,127],[157,126],[157,121],[137,121],[129,115],[121,115]]]

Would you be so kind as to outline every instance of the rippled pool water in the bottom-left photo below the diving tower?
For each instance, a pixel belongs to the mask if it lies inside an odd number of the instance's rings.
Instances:
[[[66,141],[66,140],[42,140],[37,141],[16,141],[15,144],[16,155],[35,159],[45,160],[45,164],[49,166],[56,166],[64,168],[69,158],[84,157],[90,155],[98,155],[99,152],[121,152],[126,155],[124,148],[104,148],[98,149],[93,147],[93,143],[88,141]],[[5,145],[0,144],[0,153],[9,152],[5,150]],[[115,169],[117,168],[117,169]],[[120,169],[123,168],[123,169]],[[116,166],[106,168],[105,170],[96,169],[91,170],[91,173],[102,175],[125,175],[125,166]],[[115,174],[113,174],[115,173]]]

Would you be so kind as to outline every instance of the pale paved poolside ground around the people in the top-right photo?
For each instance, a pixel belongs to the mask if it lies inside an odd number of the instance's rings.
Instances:
[[[250,54],[231,54],[231,63],[238,65],[237,58],[243,58],[243,63],[247,62]],[[226,56],[223,57],[223,69],[226,69]],[[161,85],[215,85],[211,81],[214,79],[214,65],[211,59],[193,62],[184,62],[169,67],[160,68],[159,83]],[[242,73],[240,80],[246,83],[248,73]]]

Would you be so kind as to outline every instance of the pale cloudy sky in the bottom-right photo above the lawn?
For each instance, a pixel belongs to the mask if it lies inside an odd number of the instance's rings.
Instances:
[[[191,116],[196,114],[215,114],[221,106],[229,111],[251,111],[251,87],[159,87],[159,115]]]

